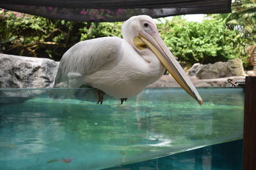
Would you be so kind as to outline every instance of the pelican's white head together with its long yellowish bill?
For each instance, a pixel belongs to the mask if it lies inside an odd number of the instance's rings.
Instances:
[[[143,53],[143,50],[152,50],[164,67],[172,74],[179,85],[188,92],[199,104],[203,104],[195,86],[188,75],[175,59],[172,52],[164,44],[160,37],[156,23],[147,15],[139,15],[129,18],[122,26],[123,38]]]

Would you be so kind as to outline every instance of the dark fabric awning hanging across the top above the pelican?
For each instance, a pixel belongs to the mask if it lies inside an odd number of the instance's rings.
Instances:
[[[123,21],[198,13],[229,13],[231,0],[0,0],[0,8],[74,21]]]

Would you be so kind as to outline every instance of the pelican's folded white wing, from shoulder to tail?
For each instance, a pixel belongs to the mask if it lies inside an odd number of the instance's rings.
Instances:
[[[122,39],[96,38],[81,41],[64,53],[54,81],[54,86],[67,82],[70,77],[79,78],[96,71],[122,53]]]

